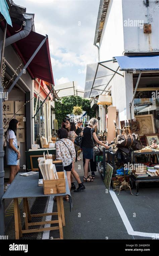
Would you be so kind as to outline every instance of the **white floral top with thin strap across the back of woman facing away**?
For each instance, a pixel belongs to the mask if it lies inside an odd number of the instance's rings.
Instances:
[[[68,148],[62,141],[67,145]],[[74,161],[75,148],[72,141],[69,139],[61,139],[55,143],[55,148],[56,159],[62,160],[64,166],[70,165]]]

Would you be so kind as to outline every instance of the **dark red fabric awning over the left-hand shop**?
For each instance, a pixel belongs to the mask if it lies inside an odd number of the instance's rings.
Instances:
[[[8,37],[16,34],[17,32],[15,31],[20,30],[19,25],[15,23],[12,24],[13,27],[7,26]],[[31,31],[27,37],[13,44],[24,64],[27,63],[44,38],[44,35]],[[29,64],[27,70],[33,79],[40,78],[54,85],[48,38]]]

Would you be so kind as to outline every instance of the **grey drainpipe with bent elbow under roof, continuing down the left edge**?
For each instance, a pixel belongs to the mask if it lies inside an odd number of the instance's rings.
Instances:
[[[9,46],[13,44],[14,42],[26,37],[29,35],[31,29],[32,29],[32,21],[33,16],[30,20],[26,20],[24,29],[20,32],[18,32],[15,35],[12,35],[8,38],[6,38],[6,27],[4,29],[3,33],[3,40],[0,41],[0,59],[1,62],[3,61],[3,55],[4,55],[4,48],[6,46]],[[2,66],[2,63],[1,63]],[[3,166],[3,158],[4,158],[4,151],[3,151],[3,113],[2,113],[2,105],[3,105],[3,87],[1,83],[1,74],[0,74],[0,201],[2,199],[2,196],[4,194],[4,166]],[[4,226],[4,202],[0,203],[0,235],[4,235],[5,226]]]

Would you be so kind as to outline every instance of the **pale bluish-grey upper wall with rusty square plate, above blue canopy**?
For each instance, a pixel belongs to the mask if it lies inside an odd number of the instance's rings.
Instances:
[[[146,1],[145,1],[146,2]],[[151,24],[152,32],[144,33],[143,28],[137,27],[135,22],[138,20],[148,23],[149,9],[149,24]],[[124,30],[124,51],[144,51],[157,52],[159,51],[159,3],[155,1],[149,2],[147,8],[142,0],[122,0],[123,25],[127,25],[125,21],[133,20],[135,26],[123,26]],[[138,32],[139,31],[139,32]],[[138,38],[139,33],[139,38]]]

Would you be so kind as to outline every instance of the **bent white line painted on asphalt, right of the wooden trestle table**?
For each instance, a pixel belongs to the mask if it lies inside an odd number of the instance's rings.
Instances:
[[[112,197],[112,199],[113,199],[113,201],[116,205],[116,208],[117,208],[117,210],[120,214],[120,217],[121,217],[121,219],[124,223],[124,226],[127,230],[127,233],[129,235],[137,235],[137,236],[144,236],[144,237],[151,237],[151,238],[157,238],[158,237],[159,238],[159,234],[157,234],[157,233],[144,233],[144,232],[134,231],[130,222],[129,222],[129,220],[128,220],[128,218],[127,218],[127,216],[126,216],[126,214],[125,214],[124,209],[122,208],[122,205],[121,205],[119,199],[117,198],[117,196],[115,194],[115,192],[112,190],[112,188],[110,188],[109,192],[110,192],[110,195],[111,195],[111,197]]]

